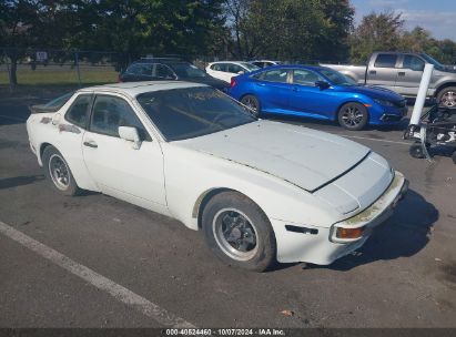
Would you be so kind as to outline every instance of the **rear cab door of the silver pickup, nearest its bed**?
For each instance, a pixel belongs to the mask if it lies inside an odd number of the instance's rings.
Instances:
[[[394,90],[398,72],[398,55],[378,53],[367,69],[367,84],[381,85]]]

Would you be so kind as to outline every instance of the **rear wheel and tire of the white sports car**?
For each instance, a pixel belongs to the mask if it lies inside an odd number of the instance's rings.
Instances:
[[[47,146],[44,149],[42,162],[45,177],[59,193],[73,196],[81,191],[75,183],[70,166],[54,146]]]

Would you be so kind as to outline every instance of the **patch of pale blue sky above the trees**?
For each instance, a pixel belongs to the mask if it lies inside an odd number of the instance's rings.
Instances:
[[[456,41],[456,0],[351,0],[355,8],[355,24],[372,11],[402,12],[405,29],[416,25],[430,31],[436,39]]]

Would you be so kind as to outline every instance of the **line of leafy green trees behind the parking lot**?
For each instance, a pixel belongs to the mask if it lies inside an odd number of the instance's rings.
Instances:
[[[354,14],[348,0],[3,0],[0,48],[13,83],[27,49],[110,51],[120,68],[145,54],[365,62],[374,50],[456,62],[454,41],[406,31],[399,13],[373,12],[357,27]]]

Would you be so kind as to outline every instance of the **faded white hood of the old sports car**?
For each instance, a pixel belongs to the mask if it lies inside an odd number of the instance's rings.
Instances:
[[[174,144],[267,173],[308,192],[348,172],[371,152],[343,137],[271,121]]]

